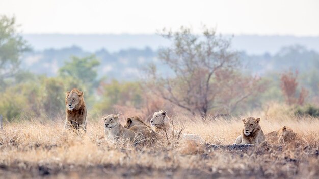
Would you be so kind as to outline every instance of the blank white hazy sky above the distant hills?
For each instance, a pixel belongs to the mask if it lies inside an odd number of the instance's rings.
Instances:
[[[319,1],[0,0],[23,33],[156,33],[203,24],[224,34],[319,36]]]

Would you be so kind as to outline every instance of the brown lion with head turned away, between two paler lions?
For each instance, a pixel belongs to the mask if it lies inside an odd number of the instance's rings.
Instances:
[[[139,132],[145,138],[156,138],[158,133],[153,131],[151,127],[145,124],[139,117],[134,116],[127,118],[126,124],[124,125],[126,129]]]

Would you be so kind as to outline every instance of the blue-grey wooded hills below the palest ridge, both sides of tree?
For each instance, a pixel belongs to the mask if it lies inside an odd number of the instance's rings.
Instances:
[[[22,57],[22,67],[36,74],[55,76],[70,56],[84,57],[91,54],[100,61],[99,77],[135,80],[140,77],[141,69],[151,62],[156,64],[158,71],[162,74],[171,75],[169,68],[158,61],[157,50],[149,47],[123,49],[116,52],[100,49],[92,53],[78,46],[32,51],[25,53]],[[238,54],[243,65],[241,69],[261,76],[269,72],[282,72],[289,69],[308,73],[317,71],[319,68],[319,53],[299,45],[283,47],[275,54],[249,55],[246,52]]]

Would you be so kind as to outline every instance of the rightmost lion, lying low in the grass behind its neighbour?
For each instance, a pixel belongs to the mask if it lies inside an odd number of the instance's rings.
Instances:
[[[277,131],[266,134],[267,141],[276,143],[289,143],[296,139],[296,133],[289,127],[282,127]]]

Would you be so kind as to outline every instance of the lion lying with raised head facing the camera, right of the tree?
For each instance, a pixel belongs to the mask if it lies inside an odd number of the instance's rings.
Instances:
[[[248,117],[242,120],[244,123],[243,133],[237,137],[235,144],[260,144],[265,141],[265,136],[259,125],[260,118]]]

